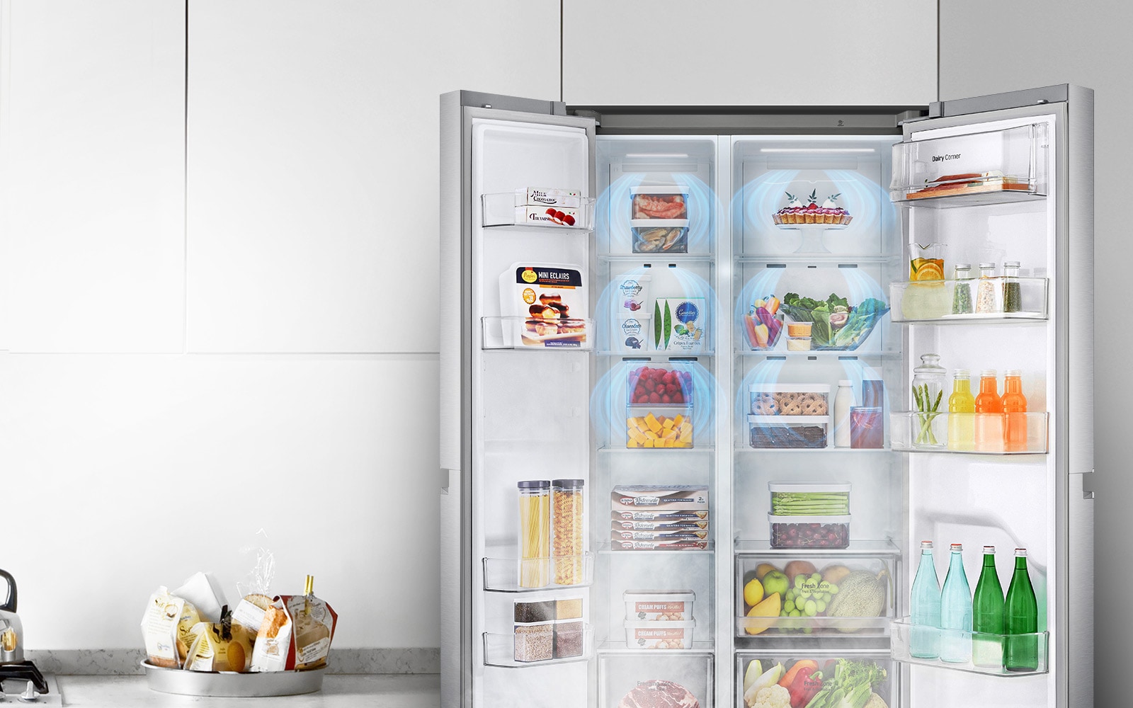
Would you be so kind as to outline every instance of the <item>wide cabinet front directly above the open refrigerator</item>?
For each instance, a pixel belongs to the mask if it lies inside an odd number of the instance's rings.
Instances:
[[[936,2],[563,2],[570,105],[923,105]]]

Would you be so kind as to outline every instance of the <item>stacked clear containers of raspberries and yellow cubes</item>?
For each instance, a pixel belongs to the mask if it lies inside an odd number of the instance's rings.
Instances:
[[[631,366],[625,399],[627,447],[692,447],[689,364]]]

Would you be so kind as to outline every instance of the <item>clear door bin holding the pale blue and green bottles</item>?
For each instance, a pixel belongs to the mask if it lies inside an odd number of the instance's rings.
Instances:
[[[1047,673],[1049,632],[1028,634],[986,634],[915,626],[909,617],[893,622],[889,649],[894,660],[937,666],[996,676],[1028,676]],[[939,648],[963,647],[970,660],[942,662]],[[914,656],[915,655],[915,656]]]

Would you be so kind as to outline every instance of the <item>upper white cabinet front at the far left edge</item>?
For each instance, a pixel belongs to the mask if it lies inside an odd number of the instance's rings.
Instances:
[[[0,349],[181,351],[184,1],[0,10]]]

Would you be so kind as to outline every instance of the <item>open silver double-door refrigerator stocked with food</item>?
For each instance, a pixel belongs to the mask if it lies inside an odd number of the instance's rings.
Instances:
[[[1092,101],[443,94],[442,705],[1091,706]]]

